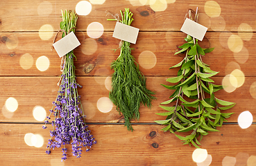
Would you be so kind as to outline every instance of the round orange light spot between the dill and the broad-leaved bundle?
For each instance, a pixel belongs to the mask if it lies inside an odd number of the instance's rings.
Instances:
[[[144,50],[139,55],[139,65],[146,69],[151,69],[155,66],[157,58],[150,50]]]

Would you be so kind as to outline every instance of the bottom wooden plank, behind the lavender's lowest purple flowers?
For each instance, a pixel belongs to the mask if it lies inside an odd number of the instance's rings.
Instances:
[[[0,127],[2,165],[196,165],[192,160],[194,148],[182,145],[173,134],[163,133],[159,125],[134,125],[133,132],[122,125],[90,125],[98,143],[91,151],[83,151],[79,159],[71,156],[71,147],[67,147],[68,158],[64,163],[60,161],[60,148],[50,155],[44,153],[50,129],[42,129],[41,124],[0,124]],[[212,156],[213,166],[222,165],[226,156],[237,158],[238,165],[255,156],[255,131],[255,126],[241,129],[237,124],[224,125],[220,132],[205,136],[201,147]],[[26,145],[26,133],[39,133],[44,138],[42,147]],[[245,156],[242,159],[241,154]]]

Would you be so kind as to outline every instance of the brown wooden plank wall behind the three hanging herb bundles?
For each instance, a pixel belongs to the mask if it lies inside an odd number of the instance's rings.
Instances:
[[[83,151],[79,159],[71,155],[70,147],[65,162],[60,161],[61,149],[46,155],[50,129],[42,129],[40,118],[45,116],[35,118],[33,110],[41,108],[48,114],[56,98],[60,58],[51,50],[51,44],[59,30],[60,10],[74,10],[78,2],[0,1],[0,165],[256,165],[256,126],[253,123],[241,129],[237,123],[244,111],[256,117],[256,2],[253,0],[90,1],[92,11],[78,17],[76,35],[81,45],[75,50],[78,58],[75,65],[78,83],[83,86],[79,94],[86,122],[98,143],[91,151]],[[200,147],[209,154],[204,163],[192,160],[194,147],[182,145],[176,136],[162,132],[162,126],[153,122],[162,120],[155,113],[164,111],[158,106],[171,94],[160,84],[167,84],[165,80],[176,75],[177,70],[169,67],[183,58],[173,55],[186,36],[180,27],[187,10],[196,10],[196,7],[200,13],[199,23],[208,28],[201,45],[215,47],[203,61],[210,64],[212,70],[220,71],[214,77],[216,84],[222,84],[234,69],[243,73],[237,77],[241,86],[229,85],[226,91],[216,93],[217,98],[237,105],[228,110],[234,112],[229,122],[201,141]],[[119,40],[112,37],[115,23],[106,20],[109,17],[105,11],[116,14],[124,8],[134,13],[132,26],[140,29],[137,44],[132,44],[135,48],[132,53],[148,77],[148,89],[156,91],[157,97],[152,109],[141,107],[141,118],[133,121],[133,132],[123,127],[123,117],[108,102],[113,72],[110,64],[119,55],[118,50],[114,53],[112,49],[118,48]],[[103,26],[103,35],[95,39],[89,37],[87,30],[93,22]],[[48,27],[47,32],[43,32],[42,26]],[[14,100],[6,105],[8,98]],[[15,107],[13,101],[17,101],[17,109],[10,112],[8,109]],[[42,147],[28,146],[27,133],[42,136]]]

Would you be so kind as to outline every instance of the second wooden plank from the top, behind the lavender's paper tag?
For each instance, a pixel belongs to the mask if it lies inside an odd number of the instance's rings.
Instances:
[[[74,50],[77,57],[76,75],[87,76],[107,76],[111,71],[110,64],[119,56],[119,50],[114,52],[113,49],[118,48],[119,39],[112,37],[112,33],[105,32],[99,39],[90,39],[86,33],[78,32],[78,39],[81,45]],[[242,47],[246,51],[241,50],[239,53],[233,53],[228,48],[228,37],[230,33],[207,33],[203,42],[200,44],[203,48],[214,47],[212,53],[208,53],[203,57],[203,62],[209,64],[212,70],[219,71],[217,76],[225,76],[231,73],[231,69],[239,68],[244,72],[245,76],[255,76],[254,62],[256,57],[253,53],[256,52],[253,44],[256,39],[244,41]],[[237,35],[237,33],[234,33]],[[4,39],[6,37],[15,36],[18,44],[16,48],[9,49]],[[144,75],[176,75],[178,69],[169,68],[178,64],[185,55],[174,55],[178,51],[178,46],[185,44],[184,38],[186,35],[181,32],[153,32],[139,33],[137,44],[132,44],[135,48],[132,51],[136,62],[140,66],[140,70]],[[60,75],[60,58],[55,50],[51,50],[53,44],[53,37],[43,41],[40,39],[38,33],[0,33],[0,75],[14,76],[14,75],[41,75],[41,76],[56,76]],[[60,35],[58,35],[60,39]],[[90,42],[86,40],[89,39]],[[232,42],[234,44],[235,41]],[[96,46],[96,48],[94,48]],[[240,45],[238,44],[237,47]],[[87,55],[83,53],[83,50]],[[139,55],[144,51],[151,51],[156,57],[156,64],[153,68],[145,69],[141,63],[148,59],[142,58],[139,61]],[[20,65],[20,59],[24,54],[30,54],[33,57],[33,65],[27,70]],[[89,55],[88,55],[89,54]],[[50,66],[46,71],[39,71],[36,67],[38,57],[46,56],[49,59]],[[232,62],[230,64],[230,62]]]

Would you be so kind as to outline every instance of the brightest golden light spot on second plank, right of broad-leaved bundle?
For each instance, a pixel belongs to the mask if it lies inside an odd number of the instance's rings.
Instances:
[[[228,38],[228,48],[234,53],[239,53],[243,48],[243,41],[238,35],[231,35]]]

